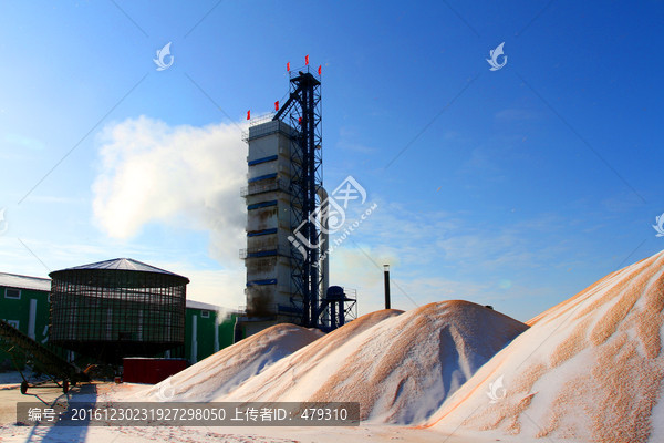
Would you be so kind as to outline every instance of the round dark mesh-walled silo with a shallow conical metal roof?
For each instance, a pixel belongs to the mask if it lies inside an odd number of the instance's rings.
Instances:
[[[186,277],[129,258],[50,277],[49,339],[54,344],[117,363],[185,342]]]

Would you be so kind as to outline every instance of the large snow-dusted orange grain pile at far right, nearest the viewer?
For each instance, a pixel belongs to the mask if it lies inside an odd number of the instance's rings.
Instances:
[[[664,251],[529,321],[428,425],[528,441],[662,441],[663,309]]]

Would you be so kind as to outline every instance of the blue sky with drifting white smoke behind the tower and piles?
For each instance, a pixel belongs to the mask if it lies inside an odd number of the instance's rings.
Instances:
[[[393,307],[467,299],[527,320],[664,248],[662,1],[1,10],[1,271],[128,256],[242,305],[240,131],[307,54],[324,184],[351,175],[377,204],[331,256],[361,313],[381,307],[383,262]]]

